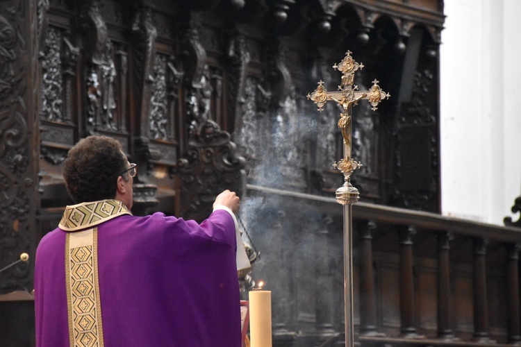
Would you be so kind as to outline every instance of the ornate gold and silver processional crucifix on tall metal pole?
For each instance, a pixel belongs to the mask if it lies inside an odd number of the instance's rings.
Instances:
[[[354,346],[354,327],[353,327],[353,232],[352,232],[352,206],[360,198],[358,189],[351,184],[351,174],[354,170],[362,166],[351,157],[352,150],[352,108],[360,100],[367,100],[372,105],[372,110],[377,110],[380,101],[390,98],[389,93],[383,92],[375,79],[372,81],[370,90],[358,90],[354,85],[354,73],[363,68],[363,64],[358,64],[352,56],[351,51],[347,51],[345,58],[340,64],[333,65],[334,69],[342,72],[342,81],[338,86],[337,92],[328,92],[324,88],[324,82],[318,83],[317,89],[308,94],[308,99],[318,106],[320,112],[324,110],[327,101],[335,101],[340,108],[340,119],[338,128],[342,130],[344,138],[344,158],[333,163],[333,167],[342,171],[344,174],[344,184],[336,189],[336,201],[343,207],[344,217],[344,292],[345,292],[345,346]]]

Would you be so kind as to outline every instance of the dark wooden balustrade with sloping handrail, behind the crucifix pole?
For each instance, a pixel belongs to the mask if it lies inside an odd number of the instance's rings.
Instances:
[[[274,346],[342,345],[343,269],[332,268],[342,266],[338,245],[342,208],[334,198],[254,185],[248,186],[248,195],[261,198],[263,208],[278,210],[283,216],[272,221],[276,234],[290,233],[278,238],[279,242],[299,244],[299,237],[307,232],[313,234],[306,236],[307,242],[317,245],[314,262],[285,264],[273,259],[283,254],[271,252],[273,236],[263,240],[258,231],[252,232],[262,245],[261,257],[277,267],[259,264],[252,271],[254,278],[277,282],[273,288]],[[299,211],[290,212],[295,205]],[[311,218],[310,214],[315,214],[314,219],[324,214],[332,221],[327,227],[301,228],[295,233],[288,219]],[[521,228],[363,202],[354,205],[353,216],[357,345],[521,345]],[[288,247],[274,246],[280,248]],[[298,255],[299,251],[289,253]],[[316,264],[314,283],[301,287],[299,278],[306,266],[311,270],[309,264]],[[284,294],[278,298],[276,291]],[[315,302],[306,305],[304,298]]]

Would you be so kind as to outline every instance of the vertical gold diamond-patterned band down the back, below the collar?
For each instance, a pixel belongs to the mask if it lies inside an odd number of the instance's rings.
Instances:
[[[98,229],[68,232],[65,249],[70,346],[102,347]]]

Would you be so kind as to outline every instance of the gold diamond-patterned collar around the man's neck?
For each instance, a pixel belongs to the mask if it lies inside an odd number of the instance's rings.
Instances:
[[[122,214],[131,214],[125,204],[119,200],[101,200],[91,203],[79,203],[65,208],[58,225],[65,231],[78,231],[92,228]]]

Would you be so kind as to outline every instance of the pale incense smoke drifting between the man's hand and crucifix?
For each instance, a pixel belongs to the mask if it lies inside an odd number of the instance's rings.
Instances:
[[[258,81],[248,78],[242,124],[234,139],[247,158],[248,183],[276,189],[247,189],[242,197],[240,219],[251,237],[246,242],[261,253],[251,277],[264,280],[265,289],[272,291],[274,323],[285,323],[295,310],[310,317],[322,314],[320,319],[331,323],[327,317],[333,309],[322,298],[334,300],[342,292],[341,228],[331,232],[331,219],[317,211],[316,202],[285,192],[315,193],[308,173],[331,169],[338,117],[317,112],[294,91],[270,114],[269,108],[258,106],[266,97]]]

